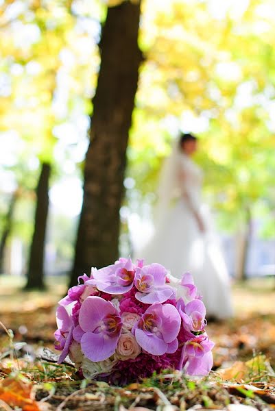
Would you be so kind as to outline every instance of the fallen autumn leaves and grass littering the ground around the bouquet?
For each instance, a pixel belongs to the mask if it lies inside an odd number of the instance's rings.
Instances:
[[[69,361],[57,364],[55,309],[47,301],[1,315],[0,411],[275,410],[275,314],[210,323],[216,345],[208,377],[167,370],[113,387],[81,379]]]

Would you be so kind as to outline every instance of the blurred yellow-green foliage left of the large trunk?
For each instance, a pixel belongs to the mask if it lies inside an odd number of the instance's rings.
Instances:
[[[93,5],[98,15],[101,9]],[[72,138],[67,130],[91,111],[99,65],[97,45],[87,28],[91,17],[86,25],[84,18],[73,13],[70,0],[7,0],[0,5],[0,138],[8,157],[0,159],[0,172],[10,173],[9,181],[20,189],[13,232],[24,242],[32,234],[39,163],[52,164],[54,181],[64,166],[69,164],[75,173],[82,162],[71,153],[81,132]],[[8,196],[1,188],[1,197]],[[6,208],[6,203],[0,205],[1,219]]]

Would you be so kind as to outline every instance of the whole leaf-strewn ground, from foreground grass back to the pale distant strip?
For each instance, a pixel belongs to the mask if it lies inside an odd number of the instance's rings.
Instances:
[[[53,349],[56,303],[66,286],[64,278],[58,277],[50,279],[48,291],[43,293],[22,292],[21,286],[19,277],[0,277],[0,321],[14,333],[13,340],[9,339],[4,327],[0,327],[0,410],[17,405],[23,411],[37,410],[37,406],[58,411],[123,411],[132,405],[132,410],[141,406],[160,410],[166,406],[168,411],[173,406],[185,410],[196,404],[221,409],[228,403],[246,403],[259,410],[275,408],[274,278],[253,279],[245,286],[235,284],[235,318],[208,324],[208,335],[215,341],[210,377],[199,381],[184,379],[169,371],[128,388],[83,382],[70,366],[34,360],[35,353],[43,348]],[[18,360],[12,358],[9,344],[16,346]],[[30,354],[27,363],[26,352]],[[23,395],[21,402],[17,398],[18,384],[24,393],[29,393]],[[36,408],[29,408],[30,401]]]

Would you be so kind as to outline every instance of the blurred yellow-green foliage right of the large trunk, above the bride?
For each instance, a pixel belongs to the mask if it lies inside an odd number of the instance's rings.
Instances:
[[[155,190],[175,128],[198,130],[197,160],[222,226],[237,229],[260,200],[266,215],[274,208],[272,11],[269,0],[143,3],[147,60],[129,149],[135,190]]]

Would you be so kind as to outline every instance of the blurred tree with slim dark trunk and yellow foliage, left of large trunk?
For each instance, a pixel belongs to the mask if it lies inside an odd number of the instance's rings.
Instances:
[[[82,108],[82,115],[87,110],[83,101],[91,98],[91,88],[95,82],[91,73],[97,68],[97,60],[93,70],[87,69],[92,66],[91,58],[95,51],[91,43],[91,50],[86,51],[85,47],[85,58],[81,54],[89,36],[83,28],[85,26],[82,27],[77,16],[73,16],[71,1],[30,1],[24,5],[20,5],[19,1],[15,3],[17,7],[14,4],[14,8],[9,1],[0,6],[0,28],[3,30],[0,40],[3,56],[1,69],[7,83],[7,91],[3,90],[5,99],[0,105],[0,125],[1,131],[12,131],[20,136],[25,146],[24,155],[18,155],[12,166],[12,171],[19,174],[19,179],[27,182],[30,169],[33,175],[40,169],[36,196],[32,197],[32,201],[37,200],[37,203],[34,207],[36,212],[29,247],[26,287],[42,288],[49,171],[55,162],[54,149],[58,142],[58,138],[54,136],[54,127],[68,121],[71,113],[74,115],[75,105]],[[20,30],[14,32],[15,27],[20,27]],[[22,36],[26,40],[23,44]],[[69,64],[69,68],[65,70],[68,58],[78,58],[79,61],[76,67],[70,68]],[[62,80],[67,82],[69,92],[63,99],[60,97],[64,95]],[[87,82],[91,82],[91,86],[87,86]],[[61,113],[57,110],[58,99],[61,100]],[[59,134],[59,140],[61,139]],[[64,153],[64,157],[65,155]],[[33,166],[37,163],[36,159],[39,160],[40,167]],[[30,167],[25,167],[24,173],[20,175],[17,171],[22,171],[21,162],[30,164]],[[53,171],[56,169],[58,166],[55,164]]]

